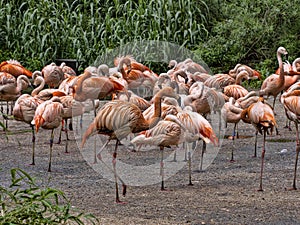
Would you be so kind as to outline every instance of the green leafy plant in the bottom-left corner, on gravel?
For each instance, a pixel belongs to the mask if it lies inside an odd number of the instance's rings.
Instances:
[[[0,224],[96,224],[92,214],[71,208],[64,193],[41,189],[21,169],[11,169],[11,184],[0,186]]]

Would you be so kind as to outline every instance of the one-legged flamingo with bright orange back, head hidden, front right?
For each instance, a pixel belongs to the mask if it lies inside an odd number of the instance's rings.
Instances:
[[[263,97],[260,97],[258,102],[253,103],[247,109],[244,109],[241,118],[246,123],[251,123],[256,129],[255,138],[255,150],[257,145],[257,134],[263,134],[263,146],[261,152],[261,170],[260,170],[260,185],[258,191],[263,191],[262,189],[262,175],[265,157],[265,142],[266,134],[271,131],[273,132],[274,127],[276,127],[276,120],[274,116],[274,111],[272,107],[264,103]],[[255,152],[256,154],[256,152]]]

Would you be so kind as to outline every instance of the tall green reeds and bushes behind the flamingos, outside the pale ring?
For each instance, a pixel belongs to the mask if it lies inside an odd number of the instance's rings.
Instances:
[[[0,0],[0,5],[0,60],[14,58],[31,70],[58,58],[78,59],[83,69],[136,40],[183,46],[214,73],[236,63],[273,72],[280,45],[291,60],[300,56],[296,0]]]

